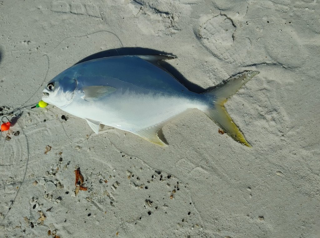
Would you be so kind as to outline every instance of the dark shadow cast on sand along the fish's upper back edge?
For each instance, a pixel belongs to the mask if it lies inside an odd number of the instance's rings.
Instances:
[[[98,59],[98,58],[104,58],[104,57],[111,57],[111,56],[119,56],[119,55],[169,55],[172,56],[173,58],[176,58],[175,55],[164,52],[164,51],[159,51],[159,50],[153,50],[153,49],[148,49],[148,48],[140,48],[140,47],[124,47],[124,48],[117,48],[117,49],[110,49],[110,50],[104,50],[100,51],[98,53],[92,54],[86,58],[83,58],[76,64],[92,60],[92,59]],[[170,62],[170,60],[168,61]],[[175,67],[170,65],[166,61],[160,61],[160,65],[168,71],[170,74],[172,74],[173,77],[175,77],[180,83],[182,83],[186,88],[188,88],[190,91],[195,92],[195,93],[202,93],[204,92],[205,88],[202,88],[195,83],[192,83],[188,81]],[[75,65],[76,65],[75,64]]]

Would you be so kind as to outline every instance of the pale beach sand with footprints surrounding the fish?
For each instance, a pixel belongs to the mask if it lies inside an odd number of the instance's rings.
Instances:
[[[107,126],[96,135],[52,105],[22,109],[0,138],[0,237],[320,237],[316,0],[4,0],[0,13],[0,106],[11,109],[114,48],[172,53],[201,88],[261,72],[227,103],[253,148],[197,110],[163,128],[161,148]],[[88,191],[74,197],[77,167]]]

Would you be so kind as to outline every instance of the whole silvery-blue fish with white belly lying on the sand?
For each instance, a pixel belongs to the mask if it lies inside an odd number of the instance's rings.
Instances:
[[[158,62],[161,55],[93,59],[66,69],[44,88],[42,100],[85,119],[98,134],[100,124],[167,146],[158,131],[189,109],[203,111],[237,142],[250,147],[224,107],[257,71],[247,71],[213,89],[189,91]]]

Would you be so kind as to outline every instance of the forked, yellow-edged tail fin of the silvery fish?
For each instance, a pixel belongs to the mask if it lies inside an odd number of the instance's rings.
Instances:
[[[211,94],[214,100],[213,107],[204,111],[204,113],[235,141],[240,142],[248,147],[251,147],[251,145],[247,142],[240,129],[233,122],[232,118],[226,111],[224,104],[227,102],[228,98],[234,95],[242,87],[242,85],[244,85],[258,73],[260,72],[246,71],[240,73],[228,79],[228,81],[217,85],[215,88],[204,92],[204,94]]]

